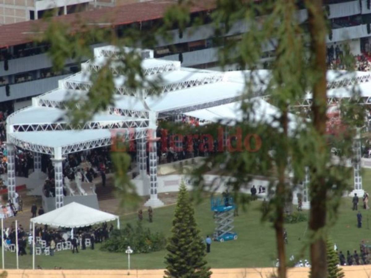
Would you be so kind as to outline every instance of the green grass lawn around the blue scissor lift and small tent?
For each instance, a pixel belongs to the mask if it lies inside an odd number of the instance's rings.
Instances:
[[[364,171],[363,186],[371,192],[371,170]],[[211,253],[207,255],[207,261],[213,268],[235,268],[235,267],[270,267],[276,258],[275,234],[272,225],[268,222],[260,221],[258,211],[260,201],[254,201],[246,211],[240,209],[239,217],[235,218],[235,231],[238,233],[238,240],[228,242],[213,242]],[[144,227],[151,228],[152,231],[163,232],[166,236],[170,235],[171,221],[173,219],[174,205],[158,208],[154,211],[154,222],[149,223],[147,214],[144,218]],[[367,217],[370,218],[371,210],[361,210],[363,215],[363,227],[357,228],[356,213],[351,210],[351,199],[343,198],[339,210],[339,218],[336,224],[331,227],[330,235],[339,250],[359,250],[359,242],[362,239],[371,240],[371,230],[367,229]],[[212,234],[214,229],[213,214],[210,211],[210,202],[205,200],[196,207],[196,220],[201,230],[201,235],[206,237]],[[135,224],[137,215],[125,215],[121,217],[121,225],[130,222]],[[303,237],[306,222],[286,225],[288,231],[289,244],[287,254],[296,255],[305,246],[305,236]],[[300,238],[300,240],[299,240]],[[36,256],[36,266],[42,268],[54,268],[55,266],[68,268],[88,268],[88,269],[119,269],[127,268],[127,255],[103,252],[99,250],[99,244],[95,250],[81,250],[79,254],[72,254],[71,251],[56,252],[55,256]],[[308,250],[304,251],[304,258],[308,258]],[[0,254],[1,255],[1,254]],[[151,254],[137,254],[131,256],[131,268],[151,269],[164,268],[165,251],[154,252]],[[16,267],[16,255],[6,252],[6,268]],[[20,268],[32,267],[32,256],[26,255],[19,257]]]

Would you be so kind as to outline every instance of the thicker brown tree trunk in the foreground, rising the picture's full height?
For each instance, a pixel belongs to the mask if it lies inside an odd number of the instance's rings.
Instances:
[[[322,0],[306,0],[308,9],[308,26],[311,36],[311,72],[316,74],[316,82],[313,84],[313,104],[312,104],[312,120],[313,126],[320,138],[319,151],[326,151],[326,24],[322,8]],[[310,167],[311,173],[316,173],[315,167],[325,167],[325,161],[321,161],[323,165]],[[318,232],[326,224],[326,185],[325,177],[313,175],[311,179],[311,211],[309,216],[309,229],[312,235],[310,245],[311,252],[311,277],[326,278],[326,242],[323,237],[318,237]]]

